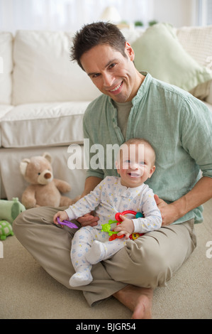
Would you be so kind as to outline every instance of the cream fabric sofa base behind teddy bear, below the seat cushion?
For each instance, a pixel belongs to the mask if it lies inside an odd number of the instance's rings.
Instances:
[[[29,183],[23,178],[23,175],[21,175],[19,169],[21,160],[23,160],[23,158],[30,158],[31,156],[42,156],[45,152],[50,153],[50,156],[52,157],[54,178],[67,181],[71,186],[71,190],[69,193],[65,193],[65,195],[69,196],[69,198],[75,198],[77,195],[82,194],[84,190],[86,170],[83,168],[69,168],[68,161],[69,157],[72,156],[72,153],[67,151],[67,146],[49,146],[30,147],[25,149],[1,149],[0,188],[2,190],[2,194],[5,193],[6,198],[12,200],[13,197],[18,197],[19,200],[21,200],[23,191],[29,185]],[[80,158],[83,159],[83,155],[80,150],[75,151],[74,156],[76,156],[77,160]]]

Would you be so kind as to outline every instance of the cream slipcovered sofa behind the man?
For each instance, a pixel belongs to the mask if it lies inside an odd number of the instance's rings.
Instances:
[[[196,64],[212,68],[212,26],[173,31]],[[136,45],[146,32],[125,29],[123,33],[129,43]],[[68,166],[72,153],[69,148],[72,144],[83,145],[83,114],[100,93],[86,73],[70,62],[71,43],[72,33],[65,32],[0,33],[1,198],[21,198],[27,183],[19,163],[45,151],[52,156],[55,178],[72,186],[69,197],[82,193],[85,170]],[[191,92],[195,95],[196,87]],[[211,81],[201,85],[200,98],[212,111]]]

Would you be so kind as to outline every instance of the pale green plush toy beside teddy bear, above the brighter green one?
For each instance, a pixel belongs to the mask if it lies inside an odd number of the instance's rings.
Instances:
[[[13,220],[25,210],[25,206],[18,201],[18,198],[13,198],[13,200],[0,200],[1,220],[7,220],[12,224]]]

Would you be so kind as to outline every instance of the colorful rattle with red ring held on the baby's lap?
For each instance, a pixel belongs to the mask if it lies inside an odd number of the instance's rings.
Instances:
[[[124,235],[120,235],[118,236],[116,231],[111,231],[111,224],[116,223],[116,225],[120,225],[122,220],[120,215],[127,215],[128,213],[131,213],[132,215],[135,215],[135,218],[139,218],[139,217],[143,217],[143,214],[141,212],[135,212],[132,210],[126,210],[123,212],[117,212],[115,215],[116,220],[109,220],[107,224],[102,224],[102,232],[107,232],[109,235],[109,241],[112,241],[116,238],[121,239],[124,237]],[[130,239],[137,239],[138,237],[140,237],[141,235],[144,235],[144,233],[133,233],[132,235],[130,235]]]

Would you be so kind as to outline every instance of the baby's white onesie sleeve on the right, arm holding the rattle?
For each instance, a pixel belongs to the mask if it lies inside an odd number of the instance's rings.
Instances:
[[[157,208],[154,193],[152,189],[148,189],[143,195],[143,207],[141,208],[144,218],[133,219],[134,232],[146,233],[159,230],[162,225],[162,217],[160,210]]]

